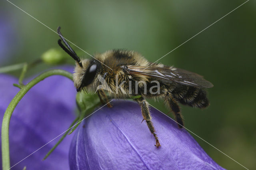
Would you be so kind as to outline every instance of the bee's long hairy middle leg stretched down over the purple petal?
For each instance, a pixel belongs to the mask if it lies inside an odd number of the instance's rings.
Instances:
[[[155,131],[155,128],[153,126],[153,123],[151,122],[151,116],[150,116],[150,112],[149,112],[149,109],[148,109],[148,102],[143,97],[140,97],[140,98],[134,99],[134,100],[136,102],[138,102],[138,104],[140,105],[143,120],[146,121],[150,132],[154,135],[154,137],[156,139],[155,146],[156,147],[161,146],[159,141],[158,141],[158,137],[156,136],[156,133],[155,133],[156,131]]]

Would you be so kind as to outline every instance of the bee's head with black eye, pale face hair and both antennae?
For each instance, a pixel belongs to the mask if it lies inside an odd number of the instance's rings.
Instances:
[[[76,86],[77,91],[81,91],[84,87],[90,85],[96,77],[96,74],[100,70],[101,64],[97,60],[80,60],[80,58],[76,55],[75,51],[70,47],[70,45],[66,42],[62,34],[60,33],[60,27],[57,30],[61,40],[58,40],[58,44],[66,53],[68,53],[74,60],[76,60],[75,73],[73,76],[74,85]],[[62,44],[62,41],[66,45],[66,47]]]

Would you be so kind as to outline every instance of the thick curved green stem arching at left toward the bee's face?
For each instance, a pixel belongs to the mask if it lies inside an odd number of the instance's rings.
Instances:
[[[19,103],[19,101],[22,99],[22,97],[28,92],[29,89],[31,89],[34,85],[36,85],[40,81],[44,80],[46,77],[49,77],[52,75],[63,75],[65,77],[68,77],[69,79],[73,80],[72,74],[69,73],[68,71],[61,70],[61,69],[54,69],[54,70],[46,71],[46,72],[38,75],[38,77],[34,78],[27,85],[23,86],[20,89],[20,91],[16,94],[16,96],[12,99],[10,104],[8,105],[8,107],[4,113],[4,118],[3,118],[3,122],[2,122],[2,131],[1,131],[2,168],[3,168],[3,170],[10,169],[9,124],[10,124],[10,119],[11,119],[12,113],[13,113],[16,105]]]

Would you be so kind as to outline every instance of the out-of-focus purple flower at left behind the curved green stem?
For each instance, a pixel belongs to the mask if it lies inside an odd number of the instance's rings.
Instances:
[[[68,67],[72,72],[73,67]],[[18,79],[0,74],[0,122],[4,112],[18,93],[19,89],[12,84]],[[52,76],[44,79],[22,98],[12,114],[10,121],[10,163],[11,166],[64,132],[75,119],[76,90],[70,79],[62,76]],[[73,134],[71,134],[73,135]],[[60,138],[60,137],[59,137]],[[50,142],[12,169],[69,169],[68,148],[72,136],[67,136],[46,159],[46,153],[59,138]],[[0,156],[2,167],[2,155]]]

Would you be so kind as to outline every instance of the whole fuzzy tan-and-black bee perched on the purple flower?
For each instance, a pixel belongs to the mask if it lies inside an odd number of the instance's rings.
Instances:
[[[108,97],[115,99],[134,97],[134,101],[141,107],[142,122],[146,121],[150,132],[154,135],[156,147],[159,147],[160,143],[146,99],[163,99],[174,113],[180,128],[184,124],[178,103],[197,108],[205,108],[209,105],[204,89],[213,85],[201,75],[176,67],[150,63],[141,54],[124,49],[98,53],[92,59],[81,60],[63,38],[60,27],[57,31],[60,36],[58,44],[76,60],[73,74],[76,90],[97,92],[100,101],[103,104],[107,103],[108,107],[112,107]]]

